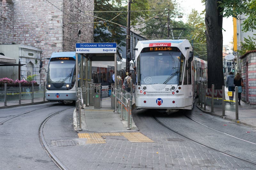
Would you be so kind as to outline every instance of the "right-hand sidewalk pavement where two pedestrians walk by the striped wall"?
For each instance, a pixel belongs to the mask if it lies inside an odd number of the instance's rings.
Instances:
[[[222,116],[222,107],[214,107],[211,112],[211,106],[206,105],[206,110],[201,108],[201,105],[196,105],[204,113],[218,116],[232,122],[243,124],[252,128],[256,128],[256,107],[251,107],[241,100],[241,105],[238,105],[238,120],[236,120],[235,103],[225,105],[225,116]]]

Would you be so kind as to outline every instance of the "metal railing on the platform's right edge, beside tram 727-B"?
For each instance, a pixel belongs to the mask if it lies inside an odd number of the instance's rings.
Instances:
[[[122,87],[117,87],[113,89],[112,94],[115,95],[115,111],[116,113],[121,114],[120,120],[127,119],[127,128],[128,130],[132,127],[132,98],[131,94],[127,93]],[[119,111],[118,111],[119,110]]]

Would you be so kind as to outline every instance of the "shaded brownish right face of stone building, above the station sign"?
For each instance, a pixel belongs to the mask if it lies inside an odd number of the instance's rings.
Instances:
[[[72,1],[64,0],[63,11],[63,51],[74,51],[76,43],[93,42],[93,17],[81,11],[93,11],[94,0]],[[93,15],[93,12],[90,12]],[[67,24],[81,23],[81,24]],[[80,34],[79,34],[80,33]]]

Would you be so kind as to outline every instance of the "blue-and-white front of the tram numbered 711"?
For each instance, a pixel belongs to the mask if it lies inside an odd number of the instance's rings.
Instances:
[[[45,96],[48,101],[63,103],[76,100],[76,52],[52,53]]]

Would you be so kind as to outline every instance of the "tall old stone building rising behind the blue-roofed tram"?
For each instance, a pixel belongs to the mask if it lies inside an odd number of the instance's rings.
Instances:
[[[41,59],[74,51],[76,43],[93,42],[93,18],[82,12],[93,10],[93,0],[0,0],[0,45],[40,48]],[[48,60],[42,61],[47,70]],[[41,71],[41,83],[46,75]]]

